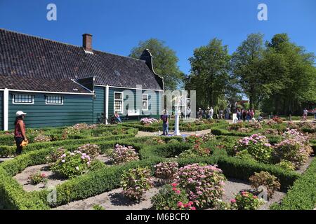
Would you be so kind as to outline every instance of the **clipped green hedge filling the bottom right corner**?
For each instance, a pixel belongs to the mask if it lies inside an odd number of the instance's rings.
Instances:
[[[312,210],[316,208],[316,160],[294,182],[280,204],[272,204],[272,210]]]

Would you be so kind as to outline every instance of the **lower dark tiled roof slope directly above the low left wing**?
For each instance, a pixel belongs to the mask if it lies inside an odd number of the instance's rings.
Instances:
[[[70,79],[32,78],[20,75],[0,75],[0,89],[36,90],[45,92],[91,93]]]

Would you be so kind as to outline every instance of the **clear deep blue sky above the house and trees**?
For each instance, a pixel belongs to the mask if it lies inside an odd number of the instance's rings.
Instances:
[[[46,20],[48,3],[57,5],[58,20]],[[257,19],[259,3],[268,5],[268,21]],[[230,52],[258,32],[265,39],[287,32],[298,45],[316,52],[315,0],[0,0],[0,27],[55,41],[81,45],[93,34],[93,48],[129,55],[147,38],[159,38],[176,51],[188,73],[192,51],[217,37]]]

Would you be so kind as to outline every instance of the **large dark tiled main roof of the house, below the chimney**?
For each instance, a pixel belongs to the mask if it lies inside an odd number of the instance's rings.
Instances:
[[[79,46],[5,29],[0,29],[0,74],[50,78],[58,83],[96,76],[96,85],[162,90],[143,60],[98,50],[90,54]]]

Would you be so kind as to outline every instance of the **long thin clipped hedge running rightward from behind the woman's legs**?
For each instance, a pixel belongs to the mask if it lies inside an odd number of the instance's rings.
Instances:
[[[52,148],[52,147],[60,147],[60,146],[71,146],[73,144],[94,144],[96,142],[100,141],[110,141],[110,140],[117,140],[117,139],[124,139],[124,138],[131,138],[135,137],[138,130],[136,129],[129,129],[128,134],[122,134],[122,135],[112,135],[108,137],[91,137],[88,139],[70,139],[70,140],[64,140],[64,141],[49,141],[49,142],[43,142],[43,143],[35,143],[35,144],[29,144],[26,146],[23,150],[23,152],[28,151],[34,151],[39,150],[41,148]],[[0,146],[0,157],[8,157],[10,155],[13,155],[15,153],[16,147],[15,146]]]

